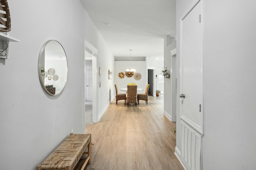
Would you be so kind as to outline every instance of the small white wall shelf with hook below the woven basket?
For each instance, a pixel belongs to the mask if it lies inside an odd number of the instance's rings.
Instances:
[[[0,58],[9,59],[10,42],[20,42],[20,40],[9,36],[8,33],[0,33]]]

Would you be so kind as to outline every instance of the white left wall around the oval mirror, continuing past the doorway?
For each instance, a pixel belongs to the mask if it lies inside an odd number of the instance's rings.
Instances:
[[[114,68],[114,57],[79,0],[8,4],[10,36],[20,43],[10,43],[9,60],[0,59],[0,169],[34,170],[72,129],[84,133],[84,39],[98,49],[103,69]],[[59,96],[46,94],[38,78],[38,55],[50,39],[62,44],[68,59],[68,80]],[[106,94],[97,103],[99,112],[113,97],[113,84],[102,76],[98,92]]]

